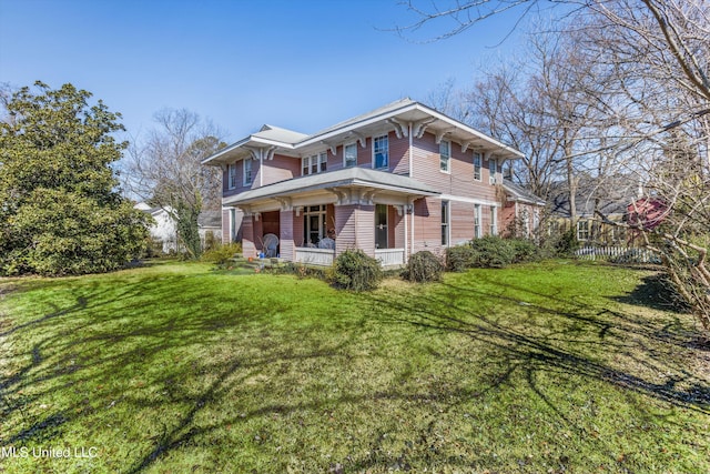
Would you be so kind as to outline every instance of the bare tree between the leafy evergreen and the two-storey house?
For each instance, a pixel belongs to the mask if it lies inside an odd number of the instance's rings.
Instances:
[[[199,258],[197,218],[203,209],[221,209],[222,179],[219,169],[200,163],[226,144],[219,129],[185,109],[161,110],[154,119],[159,127],[131,148],[128,185],[171,214],[187,253]]]

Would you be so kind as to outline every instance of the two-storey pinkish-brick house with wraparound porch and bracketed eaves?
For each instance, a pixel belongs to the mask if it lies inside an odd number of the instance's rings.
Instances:
[[[223,241],[245,255],[271,233],[288,261],[361,249],[387,266],[497,234],[501,164],[521,157],[404,99],[311,135],[264,125],[203,164],[223,170]],[[334,250],[318,248],[328,230]]]

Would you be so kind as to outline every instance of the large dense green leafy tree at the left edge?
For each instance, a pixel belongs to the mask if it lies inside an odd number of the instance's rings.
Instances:
[[[120,114],[72,84],[34,85],[12,93],[0,122],[0,274],[121,268],[142,250],[148,218],[115,190]]]

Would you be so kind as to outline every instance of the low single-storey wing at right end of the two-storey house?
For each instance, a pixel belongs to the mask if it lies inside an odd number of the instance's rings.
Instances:
[[[506,195],[500,216],[503,234],[510,234],[515,230],[514,236],[532,239],[542,219],[545,200],[505,179],[503,190]]]

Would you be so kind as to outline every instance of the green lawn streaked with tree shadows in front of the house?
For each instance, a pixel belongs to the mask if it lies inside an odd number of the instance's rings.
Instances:
[[[710,472],[710,351],[662,303],[575,262],[0,280],[0,472]]]

